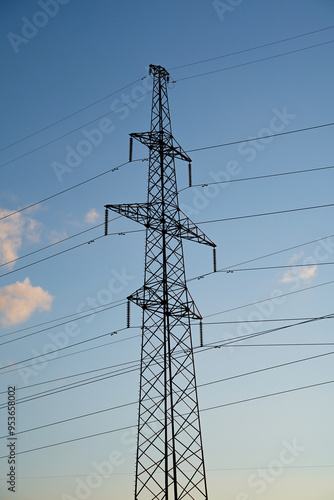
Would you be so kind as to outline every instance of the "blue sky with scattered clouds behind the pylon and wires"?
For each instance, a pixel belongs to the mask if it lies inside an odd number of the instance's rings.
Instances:
[[[334,29],[324,30],[334,25],[331,0],[4,0],[0,10],[1,217],[127,162],[128,134],[149,130],[147,67],[158,64],[170,71],[173,134],[186,151],[239,142],[189,152],[192,189],[181,191],[187,166],[176,165],[182,210],[217,244],[218,269],[235,266],[197,279],[211,273],[211,251],[184,243],[205,344],[334,312],[333,269],[322,265],[334,261],[333,207],[205,223],[331,204],[332,169],[203,187],[333,165],[331,126],[260,139],[333,122]],[[257,140],[243,142],[250,138]],[[13,340],[1,346],[1,407],[8,386],[29,399],[106,377],[17,404],[17,432],[73,418],[18,434],[17,451],[105,434],[17,455],[15,494],[2,459],[1,498],[133,496],[135,433],[109,431],[136,424],[141,311],[132,307],[125,329],[124,299],[143,282],[144,233],[128,233],[142,228],[119,218],[109,225],[114,235],[99,237],[105,204],[146,200],[146,157],[136,143],[138,161],[0,221],[0,340]],[[304,263],[312,267],[293,267]],[[274,268],[236,271],[264,266]],[[278,319],[286,321],[263,321]],[[198,325],[193,338],[198,346]],[[333,498],[333,384],[240,402],[333,380],[332,342],[332,319],[324,319],[196,350],[211,500]],[[53,359],[38,358],[47,351]],[[236,375],[243,376],[217,382]],[[5,409],[0,422],[3,437]],[[4,438],[0,450],[7,454]]]

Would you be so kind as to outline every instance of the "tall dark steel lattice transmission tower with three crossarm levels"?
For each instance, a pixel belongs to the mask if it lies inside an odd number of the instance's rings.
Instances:
[[[128,297],[143,309],[135,500],[207,500],[190,321],[202,317],[187,289],[182,238],[215,244],[179,208],[175,158],[191,159],[171,131],[168,72],[150,65],[147,203],[105,205],[146,227],[144,285]]]

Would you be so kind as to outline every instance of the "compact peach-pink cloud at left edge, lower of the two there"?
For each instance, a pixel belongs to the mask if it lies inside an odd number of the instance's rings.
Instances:
[[[53,297],[40,286],[32,286],[29,278],[0,288],[1,323],[5,326],[22,323],[36,311],[49,311]]]

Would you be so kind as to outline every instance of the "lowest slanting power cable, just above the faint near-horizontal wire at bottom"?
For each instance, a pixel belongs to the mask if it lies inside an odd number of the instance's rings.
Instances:
[[[321,387],[321,386],[325,386],[325,385],[332,384],[332,383],[334,383],[334,380],[327,380],[325,382],[318,382],[316,384],[309,384],[309,385],[305,385],[305,386],[302,386],[302,387],[295,387],[293,389],[286,389],[286,390],[283,390],[283,391],[277,391],[277,392],[273,392],[273,393],[270,393],[270,394],[262,394],[261,396],[255,396],[255,397],[247,398],[247,399],[240,399],[240,400],[237,400],[237,401],[232,401],[230,403],[223,403],[223,404],[220,404],[220,405],[215,405],[215,406],[210,406],[210,407],[207,407],[207,408],[202,408],[200,410],[200,412],[204,413],[206,411],[216,410],[218,408],[225,408],[225,407],[228,407],[228,406],[242,404],[242,403],[246,403],[246,402],[250,402],[250,401],[256,401],[256,400],[260,400],[260,399],[264,399],[264,398],[269,398],[269,397],[273,397],[273,396],[278,396],[278,395],[282,395],[282,394],[288,394],[288,393],[297,392],[297,391],[301,391],[301,390],[305,390],[305,389],[312,389],[312,388],[315,388],[315,387]],[[152,423],[153,423],[153,421],[152,421]],[[119,432],[119,431],[123,431],[123,430],[127,430],[127,429],[132,429],[132,428],[135,428],[135,427],[136,427],[136,425],[133,424],[133,425],[128,425],[128,426],[124,426],[124,427],[119,427],[117,429],[111,429],[111,430],[104,431],[104,432],[98,432],[98,433],[95,433],[95,434],[89,434],[89,435],[77,437],[77,438],[74,438],[74,439],[68,439],[66,441],[52,443],[52,444],[48,444],[48,445],[45,445],[45,446],[39,446],[37,448],[33,448],[33,449],[30,449],[30,450],[19,451],[19,452],[17,452],[17,455],[24,455],[26,453],[32,453],[34,451],[40,451],[40,450],[44,450],[44,449],[47,449],[47,448],[53,448],[55,446],[61,446],[61,445],[64,445],[64,444],[74,443],[74,442],[77,442],[77,441],[82,441],[84,439],[90,439],[90,438],[93,438],[93,437],[104,436],[106,434],[111,434],[113,432]],[[7,459],[7,458],[8,458],[7,455],[0,457],[0,459]]]

